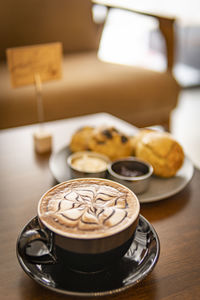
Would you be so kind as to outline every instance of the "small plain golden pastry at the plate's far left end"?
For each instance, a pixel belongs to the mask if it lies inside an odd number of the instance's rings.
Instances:
[[[71,138],[69,148],[72,152],[88,150],[88,143],[94,127],[84,126],[77,130]]]

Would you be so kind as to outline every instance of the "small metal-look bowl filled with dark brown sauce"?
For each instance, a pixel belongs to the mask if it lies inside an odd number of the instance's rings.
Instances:
[[[119,159],[108,165],[108,178],[126,185],[135,194],[148,189],[152,174],[153,167],[136,157]]]

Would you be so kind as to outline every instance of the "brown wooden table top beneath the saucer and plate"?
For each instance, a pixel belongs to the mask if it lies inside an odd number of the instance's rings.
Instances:
[[[79,118],[48,124],[54,151],[68,143]],[[81,119],[84,123],[89,118]],[[80,121],[80,119],[79,119]],[[56,294],[31,280],[21,269],[15,253],[22,227],[36,215],[40,196],[55,180],[49,171],[49,154],[34,152],[36,126],[2,130],[0,133],[0,299],[77,299]],[[137,286],[101,299],[200,299],[200,171],[175,196],[141,205],[141,214],[156,229],[161,254],[151,274]]]

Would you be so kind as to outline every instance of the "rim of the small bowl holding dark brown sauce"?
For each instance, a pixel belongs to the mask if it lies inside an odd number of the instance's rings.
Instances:
[[[148,168],[148,172],[145,173],[144,175],[140,175],[140,176],[124,176],[124,175],[120,175],[120,174],[116,173],[113,170],[113,165],[115,163],[124,162],[124,161],[138,162],[138,163],[146,166]],[[113,162],[110,162],[108,164],[108,172],[116,179],[121,179],[124,181],[142,181],[142,180],[149,178],[153,174],[153,166],[144,160],[138,159],[137,157],[125,157],[125,158],[117,159]]]

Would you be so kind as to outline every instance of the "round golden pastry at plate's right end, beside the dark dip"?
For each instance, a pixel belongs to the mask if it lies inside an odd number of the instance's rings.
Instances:
[[[184,162],[181,145],[166,132],[150,131],[138,140],[136,157],[149,162],[154,174],[160,177],[172,177]]]

